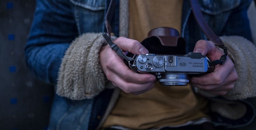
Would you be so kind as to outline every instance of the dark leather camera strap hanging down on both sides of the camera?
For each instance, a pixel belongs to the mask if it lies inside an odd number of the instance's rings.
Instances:
[[[204,34],[216,46],[218,46],[224,50],[224,55],[222,55],[219,60],[208,61],[209,66],[211,67],[211,66],[216,66],[217,64],[223,64],[226,61],[227,55],[228,55],[227,47],[225,47],[222,40],[217,35],[215,35],[215,33],[207,25],[206,21],[203,18],[202,12],[200,11],[200,5],[199,5],[198,0],[190,0],[190,4],[191,4],[191,8],[192,8],[193,14],[195,16],[195,19],[197,20],[197,23],[200,26],[200,28],[203,30]],[[102,35],[105,38],[106,42],[111,46],[111,48],[113,50],[115,50],[115,52],[120,57],[124,58],[125,60],[127,60],[130,63],[130,61],[134,61],[134,59],[124,55],[122,49],[120,49],[111,40],[111,20],[114,15],[114,10],[115,10],[115,0],[111,0],[108,11],[106,13],[106,17],[105,17],[105,26],[106,26],[108,35],[106,33],[102,33]]]

